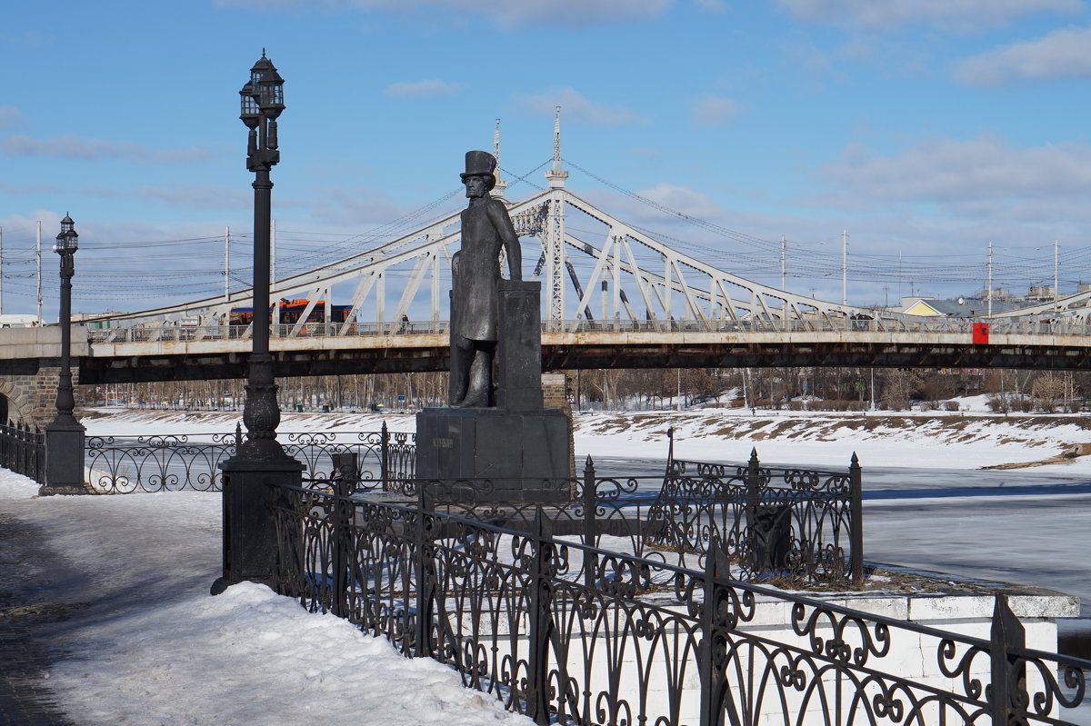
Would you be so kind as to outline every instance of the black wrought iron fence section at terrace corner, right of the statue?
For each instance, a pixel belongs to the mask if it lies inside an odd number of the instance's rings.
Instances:
[[[745,465],[674,458],[649,532],[662,547],[705,552],[722,543],[742,580],[770,576],[800,583],[853,582],[864,577],[860,461],[841,472],[762,467],[757,450]]]

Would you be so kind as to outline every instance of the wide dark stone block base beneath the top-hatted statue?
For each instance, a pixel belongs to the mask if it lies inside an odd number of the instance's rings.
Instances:
[[[568,425],[556,409],[424,409],[417,479],[488,480],[476,501],[567,501]]]

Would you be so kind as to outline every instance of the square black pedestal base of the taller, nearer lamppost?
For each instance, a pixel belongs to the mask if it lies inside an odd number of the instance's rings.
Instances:
[[[219,468],[224,472],[224,574],[211,592],[218,595],[243,580],[275,588],[276,487],[300,486],[303,464],[281,450],[280,457],[256,461],[236,455]]]

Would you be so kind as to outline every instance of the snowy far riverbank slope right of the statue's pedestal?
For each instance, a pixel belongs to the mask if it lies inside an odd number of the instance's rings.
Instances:
[[[674,428],[674,455],[699,461],[745,461],[755,448],[767,463],[847,467],[853,452],[864,467],[918,467],[922,452],[950,469],[1029,462],[1091,441],[1075,416],[936,415],[922,413],[829,413],[706,409],[683,412],[580,413],[576,448],[599,456],[667,457],[667,431]],[[594,446],[591,446],[594,443]],[[1091,472],[1091,458],[1057,464]],[[1035,469],[1050,471],[1050,469]]]

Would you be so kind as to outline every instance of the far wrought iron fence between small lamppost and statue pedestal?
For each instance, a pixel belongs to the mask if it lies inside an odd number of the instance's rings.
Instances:
[[[412,477],[416,434],[377,432],[287,433],[279,440],[288,456],[303,462],[308,479],[329,479],[335,470],[362,481]],[[88,486],[98,494],[220,491],[219,464],[231,458],[242,433],[154,436],[88,436],[84,459]]]

